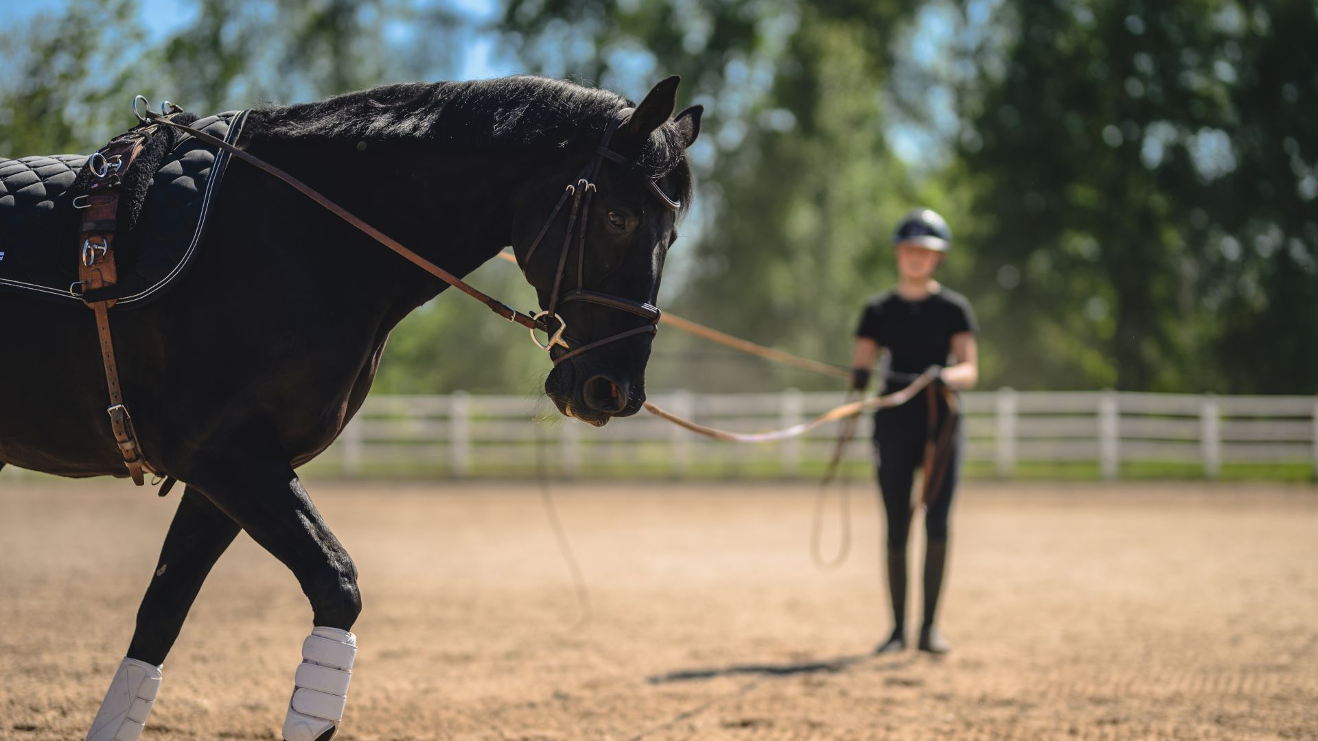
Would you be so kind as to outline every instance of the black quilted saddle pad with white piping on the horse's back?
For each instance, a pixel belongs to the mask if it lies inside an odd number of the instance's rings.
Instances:
[[[192,127],[232,144],[245,119],[245,111],[228,111]],[[191,134],[181,137],[165,158],[146,191],[133,239],[116,236],[124,293],[119,306],[146,303],[187,269],[228,160],[228,153]],[[86,162],[83,154],[0,158],[0,291],[80,302],[70,293],[78,280],[80,219],[72,206],[76,194],[69,189]]]

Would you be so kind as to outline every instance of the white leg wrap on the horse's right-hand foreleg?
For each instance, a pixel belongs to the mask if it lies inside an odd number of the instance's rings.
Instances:
[[[283,741],[333,738],[348,703],[357,637],[337,628],[314,628],[302,642],[302,666],[294,679]],[[326,736],[326,732],[330,734]]]

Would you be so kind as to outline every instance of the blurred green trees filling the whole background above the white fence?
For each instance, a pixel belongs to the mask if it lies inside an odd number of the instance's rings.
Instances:
[[[666,307],[845,364],[861,303],[895,278],[890,229],[923,204],[956,232],[941,277],[979,314],[986,386],[1318,393],[1311,3],[179,7],[157,36],[133,0],[0,34],[0,153],[88,152],[137,92],[207,113],[443,79],[478,40],[633,99],[679,73],[706,116]],[[501,262],[473,282],[532,305]],[[535,393],[546,370],[482,307],[440,298],[395,331],[377,389]],[[650,385],[833,388],[670,330]]]

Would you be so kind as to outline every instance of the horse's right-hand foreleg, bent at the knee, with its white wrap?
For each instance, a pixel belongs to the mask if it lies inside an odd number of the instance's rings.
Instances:
[[[330,741],[343,721],[357,654],[357,638],[349,633],[361,612],[356,566],[289,464],[258,465],[248,460],[202,471],[190,480],[283,562],[311,601],[315,628],[302,643],[303,661],[289,700],[283,738]]]

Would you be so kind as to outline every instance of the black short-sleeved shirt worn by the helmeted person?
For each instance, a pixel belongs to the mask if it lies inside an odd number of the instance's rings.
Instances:
[[[966,297],[944,287],[921,301],[907,301],[895,290],[883,291],[865,305],[855,335],[887,348],[892,355],[890,370],[907,374],[923,373],[931,365],[948,365],[952,335],[977,331],[975,314]],[[887,388],[905,385],[890,381]]]

